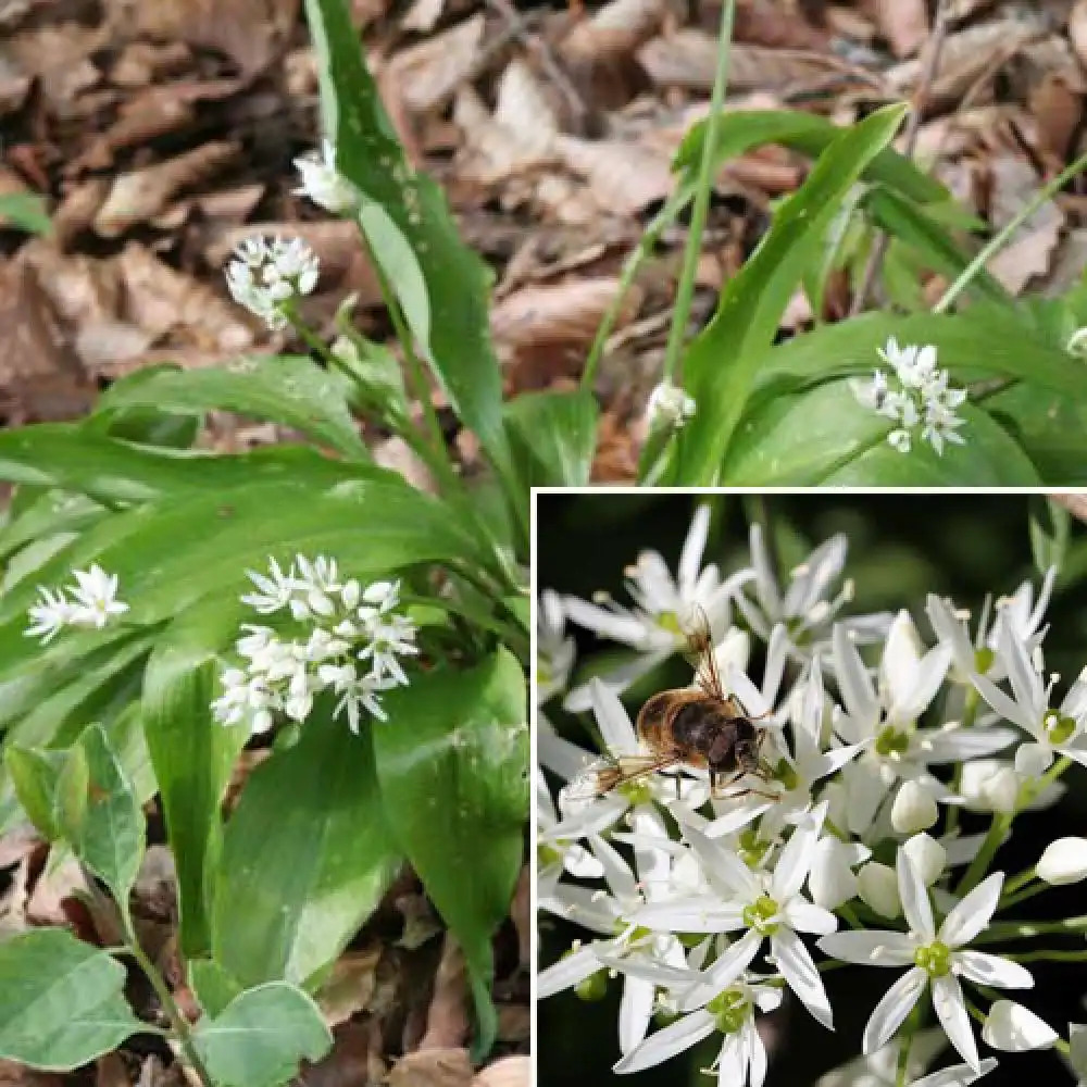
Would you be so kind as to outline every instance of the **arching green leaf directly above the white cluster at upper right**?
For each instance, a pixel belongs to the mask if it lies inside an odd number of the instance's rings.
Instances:
[[[1026,323],[988,307],[947,316],[866,313],[824,325],[771,350],[759,370],[758,384],[773,392],[779,383],[797,387],[841,374],[886,370],[878,351],[891,336],[900,345],[935,346],[939,365],[959,384],[963,375],[1017,377],[1075,402],[1087,401],[1087,366],[1047,343]]]

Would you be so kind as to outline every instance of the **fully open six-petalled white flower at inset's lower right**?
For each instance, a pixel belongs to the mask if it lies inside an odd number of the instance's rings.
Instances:
[[[971,1030],[959,977],[976,985],[1025,989],[1034,985],[1029,972],[998,955],[971,951],[966,946],[988,926],[1000,900],[1002,872],[983,880],[944,919],[933,920],[928,891],[905,852],[898,853],[898,890],[909,933],[858,930],[835,933],[819,941],[825,954],[869,966],[909,966],[887,990],[864,1028],[863,1049],[871,1053],[892,1037],[921,995],[932,987],[933,1007],[951,1045],[980,1072],[977,1045]]]

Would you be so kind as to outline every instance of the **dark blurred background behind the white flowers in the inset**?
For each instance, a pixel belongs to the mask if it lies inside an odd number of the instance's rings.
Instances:
[[[691,513],[702,497],[660,493],[540,495],[537,498],[537,571],[540,589],[590,598],[604,589],[624,604],[623,569],[642,548],[659,550],[675,570]],[[1045,502],[1021,495],[770,495],[713,496],[713,527],[705,561],[715,561],[723,573],[740,565],[747,554],[748,525],[752,518],[769,523],[780,559],[790,570],[812,546],[836,532],[850,540],[846,575],[855,580],[852,612],[911,607],[922,637],[932,629],[921,610],[929,591],[947,595],[975,610],[987,592],[1014,589],[1024,577],[1037,585],[1040,575],[1033,560],[1028,516],[1046,517]],[[1047,613],[1051,633],[1046,640],[1046,664],[1064,677],[1063,694],[1087,662],[1087,534],[1073,522],[1053,602]],[[599,644],[588,632],[571,627],[578,641],[578,678],[604,662],[615,649]],[[758,659],[753,672],[759,674]],[[636,711],[652,690],[683,679],[682,660],[672,662],[629,692],[627,707]],[[589,741],[579,722],[564,714],[559,700],[547,707],[549,719],[572,739]],[[1037,861],[1045,846],[1065,835],[1087,835],[1087,773],[1072,770],[1063,780],[1069,792],[1046,812],[1021,815],[1011,841],[997,858],[1009,875]],[[966,815],[964,830],[984,829],[987,817]],[[1002,916],[1058,919],[1087,913],[1087,883],[1047,891]],[[548,965],[584,930],[550,914],[540,916],[541,964]],[[1032,948],[1079,948],[1078,940],[1035,940]],[[1026,946],[1024,945],[1024,950]],[[997,950],[997,949],[987,949]],[[1030,963],[1035,989],[1022,998],[1065,1038],[1067,1023],[1087,1020],[1087,964]],[[829,1069],[860,1052],[860,1037],[869,1014],[895,980],[896,972],[847,969],[825,976],[835,1012],[836,1032],[820,1026],[794,999],[770,1019],[772,1037],[767,1087],[808,1087]],[[712,1083],[699,1074],[716,1055],[720,1036],[667,1064],[633,1076],[613,1077],[619,1059],[616,1021],[621,982],[609,985],[608,996],[587,1003],[572,992],[540,1002],[537,1051],[540,1087],[596,1085],[614,1078],[630,1087],[679,1087]],[[923,998],[927,999],[927,998]],[[985,1001],[978,1003],[984,1008]],[[930,1025],[930,1022],[929,1024]],[[980,1027],[974,1024],[983,1055]],[[953,1053],[953,1050],[948,1050]],[[982,1083],[1005,1087],[1030,1076],[1046,1083],[1071,1083],[1071,1074],[1055,1051],[996,1053],[1000,1066]],[[936,1066],[957,1062],[941,1058]]]

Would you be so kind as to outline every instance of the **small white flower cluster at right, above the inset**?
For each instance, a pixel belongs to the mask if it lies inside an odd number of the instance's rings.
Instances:
[[[891,337],[879,358],[890,366],[890,376],[877,370],[871,380],[853,380],[850,385],[861,404],[898,423],[887,441],[900,453],[908,453],[920,426],[921,440],[927,441],[938,455],[944,454],[946,442],[965,445],[958,427],[966,421],[955,414],[955,409],[965,401],[966,390],[948,385],[948,372],[936,365],[936,348],[899,347]]]

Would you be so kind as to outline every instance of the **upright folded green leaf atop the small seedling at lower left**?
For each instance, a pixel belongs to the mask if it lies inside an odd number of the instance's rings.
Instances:
[[[87,802],[65,837],[76,857],[125,903],[143,859],[143,810],[101,725],[89,725],[76,741],[89,771]]]

